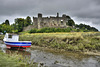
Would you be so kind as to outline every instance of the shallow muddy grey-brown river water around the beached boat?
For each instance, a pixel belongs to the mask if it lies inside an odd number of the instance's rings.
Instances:
[[[8,50],[0,41],[0,49],[4,53],[15,53],[16,50]],[[26,51],[18,51],[19,54],[28,57],[28,62],[38,63],[38,67],[100,67],[100,56],[83,55],[73,52],[57,52],[43,49],[28,48]]]

